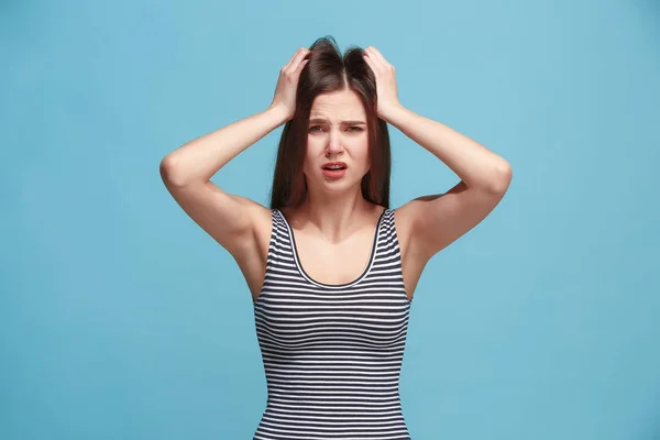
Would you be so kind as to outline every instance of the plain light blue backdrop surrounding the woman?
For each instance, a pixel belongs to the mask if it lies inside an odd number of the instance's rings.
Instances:
[[[413,438],[660,439],[659,18],[657,0],[2,1],[0,438],[252,438],[250,293],[158,165],[265,109],[330,34],[514,168],[415,293]],[[213,182],[267,204],[280,132]],[[391,133],[393,207],[458,182]]]

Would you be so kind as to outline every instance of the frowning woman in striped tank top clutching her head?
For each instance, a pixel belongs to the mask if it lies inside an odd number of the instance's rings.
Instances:
[[[285,123],[271,207],[209,179]],[[393,124],[461,182],[389,208]],[[428,261],[481,222],[508,163],[406,109],[373,46],[299,48],[271,106],[161,164],[182,208],[231,253],[252,293],[268,399],[255,439],[409,439],[398,381],[413,293]]]

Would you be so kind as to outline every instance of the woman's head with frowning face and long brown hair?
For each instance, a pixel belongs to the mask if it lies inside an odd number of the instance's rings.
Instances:
[[[343,56],[331,36],[317,40],[298,79],[296,112],[284,125],[271,208],[298,207],[309,188],[362,196],[389,207],[391,152],[387,124],[376,113],[376,81],[360,47]],[[348,165],[327,175],[329,162]]]

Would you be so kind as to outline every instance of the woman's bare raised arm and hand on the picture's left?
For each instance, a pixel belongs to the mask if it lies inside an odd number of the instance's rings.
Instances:
[[[254,237],[255,219],[267,211],[210,182],[229,161],[293,118],[295,94],[307,50],[300,48],[282,68],[271,106],[256,114],[187,142],[160,164],[161,177],[177,204],[234,256]]]

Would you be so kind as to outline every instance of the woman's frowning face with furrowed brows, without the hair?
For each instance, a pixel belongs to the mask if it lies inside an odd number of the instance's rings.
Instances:
[[[343,163],[343,169],[324,170],[330,162]],[[358,95],[341,90],[317,96],[307,127],[307,185],[339,193],[360,185],[369,169],[366,112]]]

